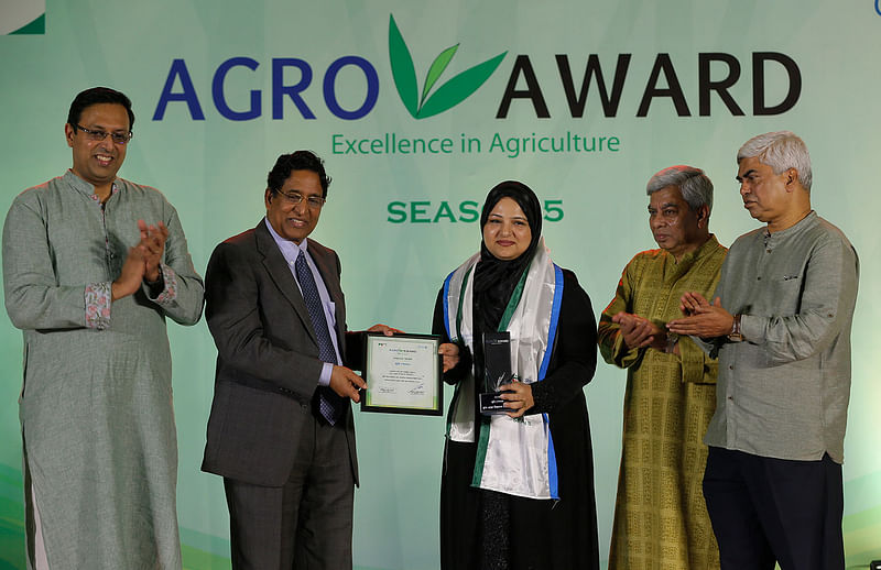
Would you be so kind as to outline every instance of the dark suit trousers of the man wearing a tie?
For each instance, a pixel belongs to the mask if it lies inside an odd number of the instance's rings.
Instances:
[[[235,570],[351,569],[355,479],[340,425],[306,421],[284,486],[224,487]]]

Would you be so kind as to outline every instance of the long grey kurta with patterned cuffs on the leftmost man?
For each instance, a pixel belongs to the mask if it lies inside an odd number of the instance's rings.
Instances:
[[[204,287],[162,194],[118,178],[104,211],[93,194],[68,171],[18,196],[3,227],[6,306],[24,333],[25,482],[53,570],[180,569],[165,316],[195,324]],[[139,219],[168,228],[164,291],[87,316],[140,241]]]

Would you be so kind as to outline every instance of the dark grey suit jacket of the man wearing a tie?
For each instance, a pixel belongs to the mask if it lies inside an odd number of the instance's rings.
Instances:
[[[308,251],[336,304],[336,335],[346,359],[339,257],[314,240]],[[215,248],[205,276],[217,370],[202,469],[281,486],[291,473],[302,427],[312,421],[323,365],[308,310],[265,220]],[[357,484],[350,408],[342,425]]]

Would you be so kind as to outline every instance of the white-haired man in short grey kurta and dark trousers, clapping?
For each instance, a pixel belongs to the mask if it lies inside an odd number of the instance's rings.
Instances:
[[[793,133],[738,152],[744,207],[715,302],[683,297],[670,330],[719,355],[704,495],[721,568],[844,570],[841,462],[859,261],[811,208],[811,158]]]

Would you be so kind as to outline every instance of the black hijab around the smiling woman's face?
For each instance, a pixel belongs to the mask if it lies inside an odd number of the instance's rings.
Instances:
[[[475,268],[474,326],[476,332],[494,331],[499,328],[511,294],[523,272],[529,270],[542,235],[542,207],[539,204],[539,197],[525,184],[505,180],[497,184],[487,195],[483,210],[480,212],[481,237],[492,208],[502,198],[513,199],[523,210],[526,222],[530,224],[532,241],[519,257],[503,261],[492,255],[481,239],[480,261]]]

